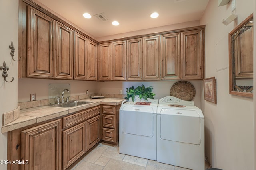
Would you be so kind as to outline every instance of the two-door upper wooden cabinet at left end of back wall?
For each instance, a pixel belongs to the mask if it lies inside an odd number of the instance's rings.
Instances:
[[[126,41],[99,45],[99,80],[126,80]]]

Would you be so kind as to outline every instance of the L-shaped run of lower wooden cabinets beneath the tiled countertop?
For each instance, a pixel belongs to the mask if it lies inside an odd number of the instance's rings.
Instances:
[[[95,106],[8,132],[7,159],[24,164],[7,169],[66,170],[100,140],[118,145],[120,106]]]

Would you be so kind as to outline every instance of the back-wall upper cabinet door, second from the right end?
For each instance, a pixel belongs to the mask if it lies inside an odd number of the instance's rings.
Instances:
[[[162,79],[180,79],[180,33],[161,37]]]

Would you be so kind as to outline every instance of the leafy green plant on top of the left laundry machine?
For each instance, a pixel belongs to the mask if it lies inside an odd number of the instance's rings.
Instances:
[[[129,100],[129,98],[132,98],[132,102],[134,102],[135,96],[138,95],[140,99],[145,99],[148,100],[148,98],[150,99],[154,99],[153,96],[155,96],[156,94],[152,93],[153,87],[146,87],[142,84],[142,86],[138,86],[136,88],[134,88],[134,86],[130,87],[130,88],[126,88],[126,94],[127,97],[126,99]]]

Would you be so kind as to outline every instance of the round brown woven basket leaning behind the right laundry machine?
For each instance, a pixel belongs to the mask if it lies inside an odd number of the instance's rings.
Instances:
[[[174,96],[176,98],[191,101],[194,99],[196,95],[195,87],[187,81],[179,81],[176,82],[170,90],[170,96]]]

